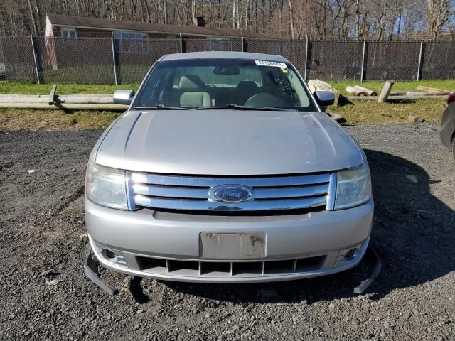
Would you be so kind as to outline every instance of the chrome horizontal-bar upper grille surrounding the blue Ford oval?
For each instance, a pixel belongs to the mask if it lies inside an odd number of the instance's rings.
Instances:
[[[218,178],[129,172],[127,178],[130,200],[136,207],[193,212],[260,212],[329,209],[335,174]],[[241,202],[214,200],[210,190],[223,185],[246,186],[251,196]]]

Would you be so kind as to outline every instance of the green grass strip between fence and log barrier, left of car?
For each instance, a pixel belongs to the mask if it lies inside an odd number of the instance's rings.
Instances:
[[[0,94],[49,94],[53,84],[0,82]],[[122,85],[58,84],[57,94],[112,94],[115,90],[137,90],[138,83]]]

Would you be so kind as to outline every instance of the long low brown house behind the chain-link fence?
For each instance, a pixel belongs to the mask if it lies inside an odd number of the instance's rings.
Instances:
[[[237,50],[244,38],[270,38],[232,28],[177,26],[136,21],[114,21],[48,14],[45,63],[54,70],[82,64],[146,65],[167,53],[200,50]],[[43,60],[41,60],[43,63]]]

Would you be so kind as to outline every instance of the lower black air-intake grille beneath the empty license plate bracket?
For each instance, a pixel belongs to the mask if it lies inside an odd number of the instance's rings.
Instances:
[[[139,271],[151,274],[235,277],[317,271],[323,266],[326,255],[269,261],[183,261],[147,256],[136,256],[136,260]]]

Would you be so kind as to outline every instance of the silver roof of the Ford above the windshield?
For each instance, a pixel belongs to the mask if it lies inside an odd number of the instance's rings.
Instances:
[[[188,53],[173,53],[165,55],[161,60],[188,60],[188,59],[251,59],[251,60],[270,60],[272,62],[289,62],[281,55],[266,55],[264,53],[249,53],[249,52],[231,52],[231,51],[204,51],[204,52],[188,52]]]

